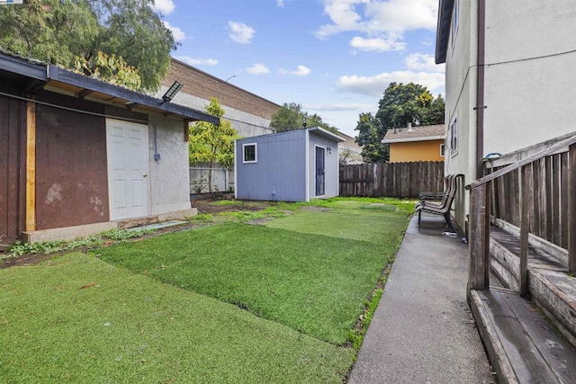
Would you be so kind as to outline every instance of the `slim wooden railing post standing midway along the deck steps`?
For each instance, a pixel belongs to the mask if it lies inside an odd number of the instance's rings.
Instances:
[[[532,191],[532,164],[520,168],[520,296],[528,295],[528,236],[534,217],[534,194]]]

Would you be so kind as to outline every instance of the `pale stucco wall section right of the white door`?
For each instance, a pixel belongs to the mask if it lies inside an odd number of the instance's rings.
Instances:
[[[154,130],[157,153],[154,159]],[[188,143],[184,140],[184,121],[149,115],[148,124],[150,213],[157,215],[190,208]]]

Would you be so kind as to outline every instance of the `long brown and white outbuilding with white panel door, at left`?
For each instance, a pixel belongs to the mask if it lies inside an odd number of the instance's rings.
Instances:
[[[190,121],[220,122],[0,52],[0,244],[193,215]]]

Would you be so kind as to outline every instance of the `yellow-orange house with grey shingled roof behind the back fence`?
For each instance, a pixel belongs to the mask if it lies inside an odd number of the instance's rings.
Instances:
[[[444,124],[388,129],[382,142],[390,144],[390,162],[444,161]]]

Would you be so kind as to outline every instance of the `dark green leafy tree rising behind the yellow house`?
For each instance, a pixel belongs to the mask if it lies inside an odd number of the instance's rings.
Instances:
[[[356,142],[362,147],[362,154],[369,161],[388,161],[389,148],[381,141],[388,129],[414,125],[444,123],[444,99],[435,99],[423,85],[414,83],[391,83],[378,103],[375,120],[371,114],[362,113],[356,126]]]

